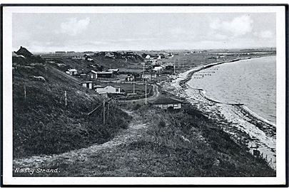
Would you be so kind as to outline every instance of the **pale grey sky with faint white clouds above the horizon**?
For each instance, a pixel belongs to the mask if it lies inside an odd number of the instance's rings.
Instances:
[[[13,48],[161,50],[275,47],[275,14],[13,14]]]

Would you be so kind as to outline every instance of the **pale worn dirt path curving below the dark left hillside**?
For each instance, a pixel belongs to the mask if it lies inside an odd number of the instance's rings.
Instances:
[[[86,161],[89,158],[96,156],[96,154],[100,153],[101,151],[106,151],[118,145],[135,141],[136,139],[138,139],[138,137],[141,137],[142,132],[146,130],[147,126],[138,114],[127,110],[123,111],[130,114],[133,119],[128,125],[128,129],[123,129],[111,141],[103,144],[95,144],[88,148],[76,149],[66,152],[64,154],[57,154],[52,156],[31,156],[27,159],[16,159],[13,161],[14,169],[17,167],[30,169],[46,167],[47,169],[49,169],[49,166],[53,166],[57,164],[57,162],[61,162],[64,164],[73,164],[77,161]]]

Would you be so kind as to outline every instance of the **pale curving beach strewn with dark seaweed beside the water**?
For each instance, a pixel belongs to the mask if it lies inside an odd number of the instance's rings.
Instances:
[[[258,56],[253,58],[268,57],[273,55]],[[194,73],[206,68],[211,68],[224,63],[233,63],[238,60],[251,58],[238,58],[218,63],[191,68],[183,73],[178,73],[170,84],[173,90],[167,90],[173,95],[181,97],[190,102],[193,107],[198,108],[205,116],[220,124],[224,132],[229,133],[235,142],[245,147],[257,146],[262,158],[268,165],[275,169],[275,124],[258,116],[242,103],[225,103],[213,100],[204,94],[202,89],[196,89],[188,85]],[[173,85],[171,85],[173,84]],[[166,87],[164,87],[166,90]],[[227,125],[228,124],[228,127]],[[245,134],[245,135],[244,135]],[[253,154],[253,149],[249,149]]]

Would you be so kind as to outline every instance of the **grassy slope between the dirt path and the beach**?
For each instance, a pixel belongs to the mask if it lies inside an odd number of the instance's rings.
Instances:
[[[113,156],[102,154],[90,162],[113,162],[113,170],[94,176],[275,176],[263,159],[235,144],[218,124],[191,107],[178,112],[151,107],[137,111],[150,129],[138,141],[111,151]]]

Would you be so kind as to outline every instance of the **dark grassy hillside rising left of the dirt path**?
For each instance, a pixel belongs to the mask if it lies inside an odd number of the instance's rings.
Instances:
[[[46,81],[31,80],[31,75]],[[87,113],[100,102],[95,92],[42,64],[19,65],[13,77],[14,157],[59,154],[106,142],[119,129],[126,129],[129,118],[121,110],[113,110],[105,126],[101,112],[88,117]]]

